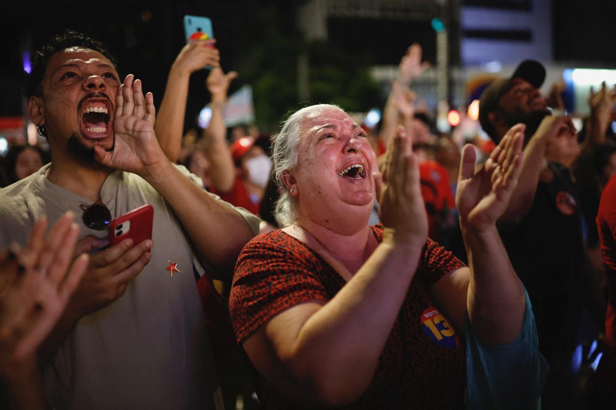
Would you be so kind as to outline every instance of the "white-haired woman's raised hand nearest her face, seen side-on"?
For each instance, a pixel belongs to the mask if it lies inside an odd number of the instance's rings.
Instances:
[[[428,215],[421,196],[419,162],[411,137],[401,126],[387,148],[383,173],[375,173],[375,186],[384,242],[423,246],[428,237]]]

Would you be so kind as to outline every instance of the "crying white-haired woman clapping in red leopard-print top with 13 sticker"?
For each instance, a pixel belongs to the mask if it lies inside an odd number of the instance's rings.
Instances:
[[[274,138],[283,229],[238,259],[233,327],[264,408],[533,408],[530,303],[496,231],[522,135],[484,168],[466,146],[456,203],[469,267],[427,238],[417,160],[400,128],[383,175],[337,106],[295,112]],[[382,224],[368,226],[375,199]]]

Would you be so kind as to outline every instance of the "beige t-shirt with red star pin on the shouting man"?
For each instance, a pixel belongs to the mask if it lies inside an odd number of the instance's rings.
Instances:
[[[107,236],[107,230],[92,231],[80,220],[81,205],[92,201],[49,182],[44,176],[48,167],[0,189],[0,249],[12,242],[25,245],[36,219],[47,216],[51,226],[67,210],[76,215],[80,237]],[[197,176],[179,169],[202,186]],[[113,171],[100,197],[111,218],[145,204],[154,207],[152,259],[120,299],[81,318],[63,342],[44,371],[50,404],[74,409],[213,408],[217,377],[190,239],[169,204],[135,174]],[[257,232],[259,219],[236,209]],[[177,262],[180,270],[172,277],[165,270],[169,262]]]

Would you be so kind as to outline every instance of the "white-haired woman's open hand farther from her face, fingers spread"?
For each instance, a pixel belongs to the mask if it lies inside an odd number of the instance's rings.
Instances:
[[[464,147],[456,191],[463,230],[484,232],[503,215],[522,168],[523,141],[522,127],[512,127],[477,172],[475,148],[470,144]]]

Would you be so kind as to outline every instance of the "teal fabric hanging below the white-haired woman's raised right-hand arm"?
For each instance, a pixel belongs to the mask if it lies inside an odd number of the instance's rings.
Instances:
[[[535,316],[526,310],[519,336],[506,345],[482,345],[466,315],[466,408],[537,409],[548,363],[539,352]]]

